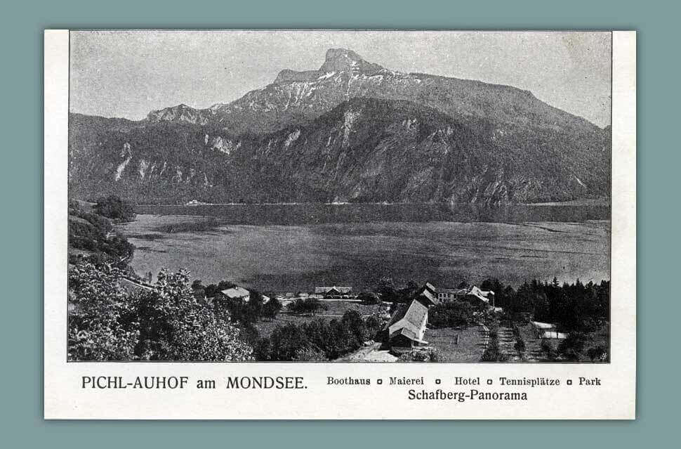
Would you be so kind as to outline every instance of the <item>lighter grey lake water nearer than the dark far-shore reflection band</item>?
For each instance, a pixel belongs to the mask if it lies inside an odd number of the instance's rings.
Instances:
[[[197,216],[138,215],[117,226],[135,245],[133,269],[187,268],[204,285],[233,280],[260,291],[350,285],[384,276],[456,285],[609,279],[609,223],[341,223],[228,225]]]

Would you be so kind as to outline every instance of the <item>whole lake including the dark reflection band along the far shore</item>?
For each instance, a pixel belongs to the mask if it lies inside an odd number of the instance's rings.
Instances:
[[[138,206],[119,226],[140,275],[187,268],[261,291],[609,279],[609,207],[434,204]]]

